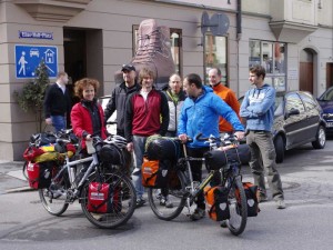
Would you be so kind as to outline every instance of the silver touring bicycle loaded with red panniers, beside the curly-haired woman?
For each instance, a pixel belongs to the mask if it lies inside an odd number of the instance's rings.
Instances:
[[[70,141],[57,139],[57,159],[30,161],[29,183],[39,190],[42,206],[52,216],[61,216],[79,200],[84,216],[94,226],[120,227],[132,217],[137,200],[134,187],[123,171],[125,144],[125,139],[119,136],[105,140],[94,136],[90,156],[70,161],[73,154],[69,153]],[[75,174],[82,164],[85,171]]]

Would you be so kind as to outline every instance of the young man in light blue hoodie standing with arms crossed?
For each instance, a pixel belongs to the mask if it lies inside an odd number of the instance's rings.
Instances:
[[[259,201],[268,200],[264,169],[269,186],[278,209],[284,209],[284,196],[280,174],[275,163],[272,126],[274,119],[275,89],[264,83],[265,69],[254,66],[250,69],[250,83],[255,88],[249,90],[241,106],[240,116],[246,119],[246,143],[251,150],[250,167],[254,183],[259,186]],[[262,157],[262,159],[261,159]]]

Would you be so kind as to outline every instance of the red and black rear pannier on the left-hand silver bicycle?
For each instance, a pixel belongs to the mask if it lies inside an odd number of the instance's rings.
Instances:
[[[46,162],[28,162],[28,181],[29,186],[33,189],[49,188],[51,179],[56,174],[57,164],[53,161]]]

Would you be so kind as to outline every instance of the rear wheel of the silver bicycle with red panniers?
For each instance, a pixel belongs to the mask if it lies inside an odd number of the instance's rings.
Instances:
[[[53,173],[56,176],[56,173]],[[61,216],[69,207],[67,191],[70,188],[68,172],[64,171],[57,183],[49,188],[39,189],[39,198],[43,208],[52,216]]]

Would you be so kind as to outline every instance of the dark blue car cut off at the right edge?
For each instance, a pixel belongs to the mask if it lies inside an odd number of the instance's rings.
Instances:
[[[317,102],[323,109],[323,118],[326,121],[326,133],[333,134],[333,87],[329,88],[317,98]]]

